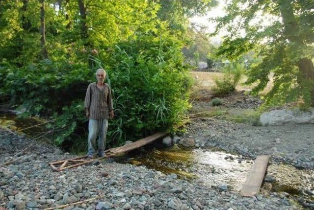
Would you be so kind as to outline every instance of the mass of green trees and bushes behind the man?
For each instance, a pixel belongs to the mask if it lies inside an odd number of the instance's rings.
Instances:
[[[56,119],[55,143],[84,147],[83,99],[103,67],[116,115],[110,146],[171,129],[189,107],[188,18],[214,2],[0,0],[2,107]]]

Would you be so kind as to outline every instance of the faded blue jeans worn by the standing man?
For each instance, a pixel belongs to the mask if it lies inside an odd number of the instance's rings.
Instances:
[[[96,151],[96,136],[98,139],[98,152],[103,153],[106,144],[108,119],[89,119],[88,121],[88,155],[92,156]]]

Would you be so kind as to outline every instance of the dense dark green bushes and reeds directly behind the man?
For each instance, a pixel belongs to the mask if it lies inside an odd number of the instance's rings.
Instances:
[[[43,60],[21,68],[0,62],[0,93],[10,98],[11,105],[26,108],[25,117],[56,119],[49,124],[56,131],[53,139],[67,149],[86,143],[83,100],[99,68],[71,56],[71,62]],[[115,110],[115,118],[109,121],[109,146],[164,131],[183,119],[192,79],[178,43],[143,35],[94,59],[98,65],[100,60],[105,64],[100,66],[107,71]]]

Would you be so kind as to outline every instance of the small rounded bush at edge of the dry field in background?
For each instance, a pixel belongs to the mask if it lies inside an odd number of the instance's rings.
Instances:
[[[235,87],[243,74],[243,66],[240,64],[228,64],[222,69],[222,72],[222,78],[214,79],[215,86],[212,91],[215,95],[227,95],[235,91]]]

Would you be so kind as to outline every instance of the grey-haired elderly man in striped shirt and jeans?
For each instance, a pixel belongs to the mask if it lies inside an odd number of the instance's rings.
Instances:
[[[93,158],[96,151],[96,136],[99,133],[98,156],[104,157],[108,118],[113,118],[111,91],[105,81],[106,72],[96,71],[97,82],[88,85],[84,106],[88,122],[88,158]]]

